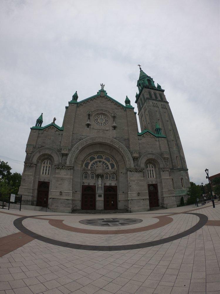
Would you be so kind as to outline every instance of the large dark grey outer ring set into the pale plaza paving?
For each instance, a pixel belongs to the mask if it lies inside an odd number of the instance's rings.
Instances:
[[[185,214],[185,213],[184,213]],[[157,246],[162,245],[168,242],[172,242],[175,240],[178,240],[180,238],[186,237],[189,234],[192,234],[202,228],[208,220],[208,217],[201,213],[186,213],[186,214],[193,214],[195,216],[199,217],[199,221],[196,225],[194,225],[192,228],[185,230],[182,233],[179,233],[174,236],[170,236],[164,239],[155,240],[155,241],[149,241],[145,243],[138,243],[138,244],[131,244],[131,245],[113,245],[113,246],[96,246],[96,245],[83,245],[83,244],[74,244],[74,243],[68,243],[63,241],[58,241],[54,239],[50,239],[44,236],[41,236],[39,234],[36,234],[32,232],[31,230],[28,230],[23,224],[22,221],[26,218],[33,218],[33,217],[39,217],[39,216],[24,216],[22,218],[17,218],[14,220],[14,226],[20,230],[22,233],[35,238],[39,241],[49,243],[56,246],[62,246],[66,248],[72,248],[72,249],[80,249],[80,250],[92,250],[92,251],[120,251],[120,250],[132,250],[132,249],[140,249],[140,248],[147,248],[151,246]],[[45,216],[45,215],[44,215]],[[51,216],[51,215],[50,215]]]

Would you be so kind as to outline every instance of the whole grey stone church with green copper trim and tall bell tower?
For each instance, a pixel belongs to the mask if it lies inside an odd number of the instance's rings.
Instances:
[[[148,211],[176,207],[187,198],[188,169],[164,90],[140,68],[136,112],[107,95],[65,109],[62,126],[31,128],[19,194],[57,212],[82,210]]]

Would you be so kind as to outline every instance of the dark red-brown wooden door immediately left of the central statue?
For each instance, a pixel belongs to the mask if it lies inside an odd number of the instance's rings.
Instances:
[[[82,185],[82,209],[95,210],[96,209],[96,186]]]

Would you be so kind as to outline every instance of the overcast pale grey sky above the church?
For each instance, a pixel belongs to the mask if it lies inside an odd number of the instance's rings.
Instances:
[[[141,64],[165,89],[190,181],[220,173],[218,0],[2,0],[0,42],[0,159],[12,172],[41,112],[61,126],[76,90],[80,101],[104,83],[136,108]]]

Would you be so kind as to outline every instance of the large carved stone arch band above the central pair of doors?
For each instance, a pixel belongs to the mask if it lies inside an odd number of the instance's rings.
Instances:
[[[121,144],[119,141],[115,139],[112,139],[109,137],[103,137],[103,136],[89,137],[78,142],[70,151],[70,154],[68,155],[68,158],[67,158],[67,164],[73,165],[79,151],[83,149],[85,146],[94,144],[94,143],[101,143],[101,144],[106,143],[109,146],[113,146],[123,156],[124,161],[126,163],[126,167],[134,166],[131,154],[129,153],[128,149],[123,144]]]

